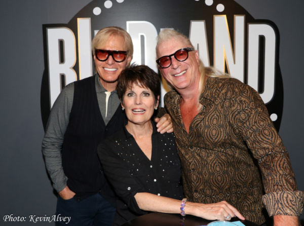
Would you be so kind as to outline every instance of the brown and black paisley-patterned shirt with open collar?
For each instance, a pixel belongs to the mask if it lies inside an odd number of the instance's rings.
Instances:
[[[189,201],[225,200],[258,224],[265,221],[264,207],[270,216],[301,214],[304,193],[297,191],[286,148],[253,88],[236,79],[209,77],[189,133],[180,95],[171,91],[164,101]]]

